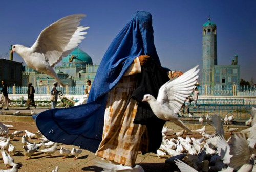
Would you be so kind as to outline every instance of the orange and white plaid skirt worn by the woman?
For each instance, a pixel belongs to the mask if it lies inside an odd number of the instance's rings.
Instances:
[[[138,151],[147,150],[146,126],[133,124],[137,104],[131,95],[135,90],[136,75],[125,76],[109,92],[104,116],[102,141],[97,156],[133,166]]]

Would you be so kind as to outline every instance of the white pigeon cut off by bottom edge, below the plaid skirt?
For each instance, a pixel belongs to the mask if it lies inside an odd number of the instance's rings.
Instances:
[[[102,161],[95,161],[95,165],[98,167],[103,168],[103,171],[133,171],[133,172],[144,172],[143,168],[140,165],[135,165],[134,168],[126,165],[115,165],[115,164],[110,164],[108,162],[102,162]]]

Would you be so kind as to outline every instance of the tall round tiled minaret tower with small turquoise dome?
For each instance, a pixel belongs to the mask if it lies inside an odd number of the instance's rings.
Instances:
[[[213,85],[214,65],[217,65],[217,30],[216,24],[210,21],[202,27],[202,85]]]

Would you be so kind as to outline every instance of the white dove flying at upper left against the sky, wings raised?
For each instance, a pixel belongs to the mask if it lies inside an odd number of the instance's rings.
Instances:
[[[79,26],[84,16],[74,14],[61,18],[42,30],[33,46],[13,45],[11,52],[19,54],[32,69],[55,78],[64,86],[53,67],[84,39],[87,32],[82,31],[89,28]]]

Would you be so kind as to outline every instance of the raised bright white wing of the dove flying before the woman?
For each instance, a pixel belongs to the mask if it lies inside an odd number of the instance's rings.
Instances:
[[[174,113],[177,113],[197,82],[199,72],[197,68],[198,65],[180,77],[162,85],[158,92],[157,101],[168,106]]]

